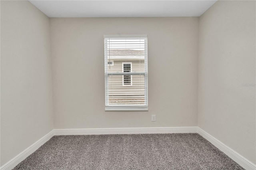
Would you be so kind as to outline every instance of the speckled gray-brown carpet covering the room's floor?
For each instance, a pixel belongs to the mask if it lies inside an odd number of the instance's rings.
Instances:
[[[53,136],[14,170],[242,170],[196,133]]]

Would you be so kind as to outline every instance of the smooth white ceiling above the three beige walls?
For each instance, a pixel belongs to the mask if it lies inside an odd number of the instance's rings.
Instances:
[[[217,0],[29,0],[48,17],[201,16]]]

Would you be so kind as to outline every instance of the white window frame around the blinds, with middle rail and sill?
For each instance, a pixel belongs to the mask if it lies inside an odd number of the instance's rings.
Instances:
[[[108,58],[108,54],[106,49],[108,49],[108,45],[106,40],[108,38],[135,38],[135,39],[144,39],[144,64],[145,69],[142,72],[130,72],[129,75],[144,75],[144,91],[145,91],[145,105],[107,105],[107,101],[109,101],[109,96],[107,95],[108,91],[108,75],[122,75],[124,73],[108,73],[108,68],[106,67],[106,57]],[[105,111],[148,111],[148,36],[147,35],[104,35],[104,58],[105,58]],[[131,65],[132,67],[132,65]],[[122,65],[123,69],[123,65]],[[132,71],[132,68],[131,68]],[[131,82],[132,83],[132,82]]]

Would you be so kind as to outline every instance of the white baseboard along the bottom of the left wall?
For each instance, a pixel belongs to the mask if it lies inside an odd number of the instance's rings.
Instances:
[[[23,150],[20,154],[12,158],[6,164],[1,166],[1,170],[11,170],[16,165],[18,165],[22,160],[28,157],[30,154],[35,152],[40,146],[42,146],[45,142],[47,142],[52,136],[54,136],[54,130],[50,131],[48,134],[40,138],[34,144]]]

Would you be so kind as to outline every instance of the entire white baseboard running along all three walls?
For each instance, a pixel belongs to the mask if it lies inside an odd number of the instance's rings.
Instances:
[[[154,134],[154,133],[198,133],[214,146],[240,164],[246,170],[256,170],[256,165],[208,134],[199,127],[152,127],[152,128],[85,128],[85,129],[54,129],[37,142],[26,148],[12,160],[4,164],[1,170],[11,170],[22,160],[36,151],[54,135],[86,135],[86,134]]]

